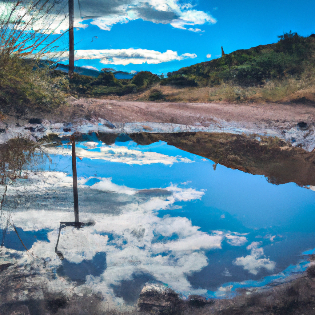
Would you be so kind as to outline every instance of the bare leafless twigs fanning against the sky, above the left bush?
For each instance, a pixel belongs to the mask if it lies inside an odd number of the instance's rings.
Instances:
[[[63,0],[9,0],[0,2],[0,60],[14,54],[34,59],[51,53],[58,46],[49,37],[66,19]]]

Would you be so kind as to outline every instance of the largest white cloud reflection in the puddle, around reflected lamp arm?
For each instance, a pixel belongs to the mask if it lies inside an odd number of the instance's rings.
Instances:
[[[86,180],[79,180],[79,184],[82,185]],[[110,185],[109,180],[102,181]],[[86,189],[100,188],[93,186],[87,186]],[[112,187],[115,185],[109,188]],[[58,191],[57,188],[58,185],[50,188],[46,186],[47,191]],[[123,190],[121,193],[134,191],[129,187],[124,187]],[[102,292],[106,299],[115,300],[112,285],[119,285],[120,281],[130,280],[134,274],[142,272],[152,275],[157,282],[168,284],[180,292],[206,294],[207,291],[204,289],[194,289],[187,280],[187,275],[207,266],[208,260],[204,250],[221,248],[224,234],[199,231],[199,226],[193,226],[186,217],[159,217],[156,209],[163,209],[166,204],[170,205],[175,201],[191,201],[203,195],[203,192],[198,193],[190,188],[169,186],[166,190],[172,194],[166,195],[167,197],[152,197],[145,202],[130,199],[130,203],[121,206],[119,215],[95,211],[93,213],[95,226],[86,226],[80,230],[72,227],[62,229],[58,250],[68,261],[80,263],[83,260],[91,260],[97,252],[106,252],[106,270],[100,277],[87,276],[85,287]],[[152,190],[152,196],[154,192],[155,190]],[[146,190],[146,193],[150,195],[150,190]],[[51,229],[48,233],[50,242],[37,241],[31,251],[39,257],[49,258],[46,260],[47,268],[60,266],[62,262],[54,254],[58,238],[57,227],[59,221],[73,220],[73,209],[16,211],[12,215],[15,224],[25,231]],[[91,213],[85,213],[84,208],[81,208],[80,220],[85,222],[90,218]],[[108,234],[111,234],[111,239]],[[176,239],[172,239],[175,234]],[[20,261],[25,263],[26,259],[30,261],[31,257],[25,254]],[[54,281],[58,286],[61,283],[62,286],[66,284],[63,277],[60,279],[57,277]],[[77,290],[80,290],[80,287]]]

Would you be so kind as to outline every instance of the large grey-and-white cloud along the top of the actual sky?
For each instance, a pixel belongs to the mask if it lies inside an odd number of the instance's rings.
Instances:
[[[68,28],[68,21],[65,19],[68,6],[64,3],[61,5],[61,9],[56,7],[55,12],[49,13],[50,20],[52,20],[50,29],[55,33],[60,33]],[[0,7],[6,8],[7,3],[0,1]],[[88,25],[84,24],[84,20],[88,19],[92,19],[90,24],[106,31],[110,31],[112,26],[117,23],[128,23],[137,19],[170,24],[175,28],[188,31],[198,29],[187,28],[187,26],[216,23],[215,18],[209,13],[192,8],[192,4],[182,4],[178,0],[80,0],[80,7],[75,1],[74,27],[86,28]],[[18,8],[17,14],[22,14],[22,10],[23,8]],[[35,27],[43,27],[40,23],[39,21],[38,26]]]

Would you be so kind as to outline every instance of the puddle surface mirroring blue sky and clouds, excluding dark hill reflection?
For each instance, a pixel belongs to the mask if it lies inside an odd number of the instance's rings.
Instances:
[[[66,277],[69,286],[74,281],[133,305],[148,283],[185,296],[222,297],[305,269],[301,255],[315,246],[314,191],[232,169],[241,163],[235,155],[229,168],[204,151],[196,155],[163,141],[141,145],[130,137],[111,135],[102,139],[106,144],[91,135],[77,144],[80,221],[95,225],[62,230],[62,261],[54,246],[59,222],[73,221],[71,146],[47,148],[52,163],[47,159],[42,172],[8,188],[8,195],[20,193],[11,212],[19,235],[55,270],[56,286]],[[213,159],[227,165],[217,151]],[[259,169],[249,164],[245,170]],[[312,185],[306,175],[296,182]],[[4,246],[23,251],[13,233]]]

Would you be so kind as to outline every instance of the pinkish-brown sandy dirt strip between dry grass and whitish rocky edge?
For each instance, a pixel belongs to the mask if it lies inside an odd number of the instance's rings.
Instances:
[[[75,108],[112,123],[156,122],[208,127],[214,120],[255,125],[315,124],[315,106],[287,104],[154,103],[99,99],[71,99]],[[66,113],[65,113],[66,114]],[[70,113],[69,113],[70,114]]]

